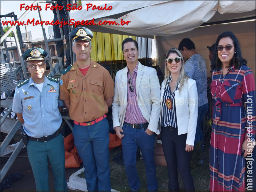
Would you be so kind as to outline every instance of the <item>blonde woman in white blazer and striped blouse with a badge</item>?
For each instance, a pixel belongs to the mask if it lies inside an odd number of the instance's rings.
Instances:
[[[189,170],[190,151],[194,149],[198,97],[196,81],[185,74],[180,51],[166,53],[165,75],[161,87],[160,131],[167,162],[169,190],[180,190],[179,169],[186,191],[194,191]]]

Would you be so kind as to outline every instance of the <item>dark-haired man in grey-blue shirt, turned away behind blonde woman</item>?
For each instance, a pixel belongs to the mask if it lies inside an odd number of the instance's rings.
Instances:
[[[201,123],[203,121],[204,114],[208,111],[206,62],[204,58],[196,52],[195,44],[189,38],[182,39],[178,49],[186,60],[186,75],[196,81],[198,94],[198,116],[194,145],[196,145],[197,142],[202,142],[201,148],[203,150],[204,137],[201,129]],[[203,163],[203,159],[200,163]]]

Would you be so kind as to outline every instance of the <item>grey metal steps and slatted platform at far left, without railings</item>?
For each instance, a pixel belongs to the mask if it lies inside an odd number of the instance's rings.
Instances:
[[[13,90],[19,81],[17,76],[21,76],[20,68],[15,70],[13,64],[14,62],[1,64],[1,97],[2,95],[5,97],[1,99],[1,134],[7,134],[5,139],[1,141],[1,157],[11,154],[1,170],[1,181],[24,145],[22,139],[15,147],[9,145],[21,125],[18,119],[16,119],[16,115],[13,115],[14,113],[12,113]],[[22,76],[24,76],[24,74]]]

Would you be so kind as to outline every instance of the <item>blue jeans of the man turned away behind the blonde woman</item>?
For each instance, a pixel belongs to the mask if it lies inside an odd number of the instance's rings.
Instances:
[[[201,129],[201,124],[204,118],[204,114],[206,114],[208,111],[208,103],[198,107],[198,116],[197,116],[197,125],[196,125],[196,137],[195,137],[195,143],[194,145],[196,145],[196,143],[198,142],[202,142],[201,148],[203,150],[203,146],[204,146],[204,136],[203,136],[203,132]]]

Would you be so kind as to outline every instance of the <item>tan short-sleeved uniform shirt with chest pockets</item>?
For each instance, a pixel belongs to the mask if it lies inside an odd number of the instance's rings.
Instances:
[[[107,69],[91,60],[84,76],[76,62],[61,76],[60,99],[70,100],[69,116],[83,123],[108,113],[107,99],[114,96],[114,81]]]

